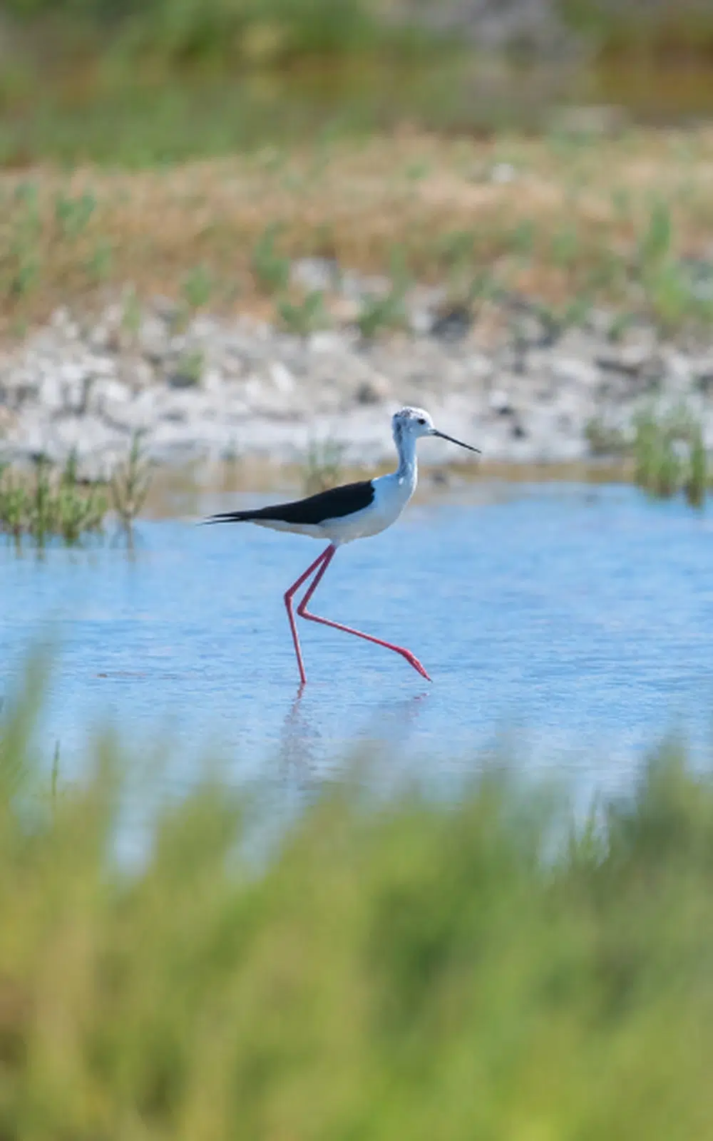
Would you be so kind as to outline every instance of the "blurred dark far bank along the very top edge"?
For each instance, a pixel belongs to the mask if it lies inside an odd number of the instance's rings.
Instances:
[[[3,0],[8,25],[51,33],[62,54],[127,51],[179,68],[284,65],[302,58],[434,47],[467,33],[475,47],[521,52],[583,48],[710,57],[708,0]],[[44,41],[47,42],[47,40]]]

